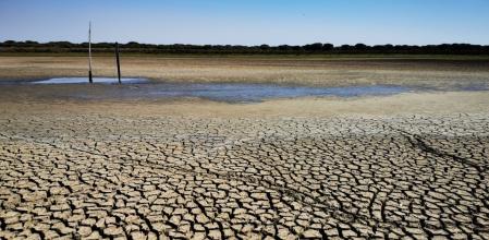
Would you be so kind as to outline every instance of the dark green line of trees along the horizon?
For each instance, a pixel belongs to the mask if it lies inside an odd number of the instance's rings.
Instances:
[[[37,43],[32,40],[0,43],[0,52],[86,52],[88,43],[70,41]],[[91,44],[94,52],[112,52],[113,43]],[[217,55],[316,55],[316,53],[380,53],[380,55],[489,55],[489,46],[469,44],[442,44],[426,46],[364,44],[333,46],[310,44],[304,46],[235,46],[235,45],[150,45],[130,41],[120,45],[123,52],[135,53],[217,53]]]

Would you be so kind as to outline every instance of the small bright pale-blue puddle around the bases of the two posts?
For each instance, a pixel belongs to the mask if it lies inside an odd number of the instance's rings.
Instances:
[[[119,84],[119,79],[114,77],[94,77],[96,84]],[[124,84],[145,83],[145,79],[121,79]],[[87,77],[56,77],[49,80],[34,81],[32,84],[89,84]]]

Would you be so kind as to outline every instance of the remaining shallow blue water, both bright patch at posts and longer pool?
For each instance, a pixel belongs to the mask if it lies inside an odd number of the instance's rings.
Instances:
[[[30,82],[32,84],[90,86],[86,77],[59,77]],[[115,84],[117,79],[95,79],[96,84]],[[168,83],[150,82],[145,79],[123,79],[122,85],[107,86],[102,91],[90,91],[90,87],[76,88],[63,93],[64,97],[82,99],[160,99],[160,98],[204,98],[228,103],[255,103],[274,98],[296,97],[356,97],[365,95],[392,95],[411,91],[408,87],[393,85],[369,85],[346,87],[309,87],[286,86],[272,84],[242,84],[242,83]]]

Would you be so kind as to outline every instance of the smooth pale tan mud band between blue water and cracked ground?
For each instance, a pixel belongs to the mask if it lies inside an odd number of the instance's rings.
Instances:
[[[195,117],[315,117],[315,116],[395,116],[477,113],[489,111],[488,92],[407,93],[394,96],[356,98],[299,98],[255,104],[228,104],[188,98],[180,100],[70,100],[33,99],[29,93],[14,97],[0,95],[3,115],[26,111],[50,112],[195,116]]]

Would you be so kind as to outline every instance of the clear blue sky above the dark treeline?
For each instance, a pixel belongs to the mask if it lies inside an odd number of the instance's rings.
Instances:
[[[0,41],[489,45],[489,0],[0,0]]]

